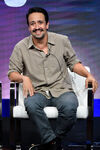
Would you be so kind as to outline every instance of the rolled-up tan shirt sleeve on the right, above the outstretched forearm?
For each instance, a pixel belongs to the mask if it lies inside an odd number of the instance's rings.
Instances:
[[[77,58],[75,51],[72,48],[71,42],[66,36],[64,39],[64,58],[67,67],[73,71],[73,67],[76,63],[81,63],[81,61]]]

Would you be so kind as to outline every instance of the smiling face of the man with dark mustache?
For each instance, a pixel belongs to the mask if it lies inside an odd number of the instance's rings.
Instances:
[[[47,33],[49,23],[46,24],[42,13],[32,13],[28,17],[29,31],[35,39],[43,39]]]

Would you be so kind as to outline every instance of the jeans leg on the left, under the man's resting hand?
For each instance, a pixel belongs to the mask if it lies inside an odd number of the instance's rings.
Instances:
[[[53,132],[50,122],[43,111],[43,108],[49,105],[49,100],[42,94],[36,93],[32,97],[25,98],[24,101],[30,120],[35,124],[41,138],[41,144],[53,140],[56,136]]]

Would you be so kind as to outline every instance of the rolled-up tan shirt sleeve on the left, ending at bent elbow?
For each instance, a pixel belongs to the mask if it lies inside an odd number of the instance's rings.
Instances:
[[[19,46],[15,46],[12,55],[9,59],[9,70],[8,76],[11,72],[19,72],[20,74],[23,72],[23,60],[22,53]]]

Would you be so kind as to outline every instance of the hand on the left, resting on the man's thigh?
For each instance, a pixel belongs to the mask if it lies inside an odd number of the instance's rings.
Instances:
[[[23,76],[22,79],[23,79],[23,95],[26,98],[28,95],[33,96],[35,91],[32,85],[32,81],[27,76]]]

